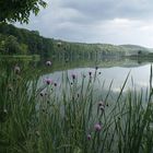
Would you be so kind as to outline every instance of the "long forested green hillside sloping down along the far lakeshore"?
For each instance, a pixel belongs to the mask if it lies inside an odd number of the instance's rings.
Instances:
[[[102,58],[105,56],[138,55],[148,52],[144,47],[134,45],[83,44],[45,38],[37,31],[17,28],[12,24],[0,23],[1,55],[40,55],[58,58]]]

